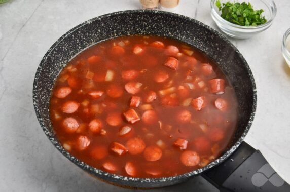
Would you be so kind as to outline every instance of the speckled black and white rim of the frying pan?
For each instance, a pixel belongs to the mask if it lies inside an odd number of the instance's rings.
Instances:
[[[190,21],[194,24],[200,25],[206,29],[208,29],[210,32],[218,35],[225,43],[227,43],[228,45],[230,45],[232,47],[232,49],[239,55],[239,57],[242,59],[243,63],[245,64],[245,68],[247,70],[247,73],[249,74],[249,78],[251,81],[251,86],[252,86],[252,91],[253,91],[253,105],[252,105],[252,112],[248,121],[248,124],[243,132],[243,134],[241,135],[241,137],[237,140],[236,143],[233,144],[233,146],[231,148],[229,148],[219,159],[216,159],[215,161],[211,162],[210,164],[208,164],[207,166],[200,168],[198,170],[195,171],[191,171],[182,175],[177,175],[177,176],[172,176],[172,177],[162,177],[162,178],[134,178],[134,177],[126,177],[126,176],[121,176],[121,175],[116,175],[116,174],[111,174],[111,173],[107,173],[104,172],[102,170],[93,168],[89,165],[87,165],[86,163],[78,160],[77,158],[75,158],[74,156],[70,155],[69,152],[67,152],[60,144],[59,142],[53,137],[53,135],[50,134],[48,128],[45,126],[43,119],[41,117],[41,114],[39,112],[39,106],[37,105],[37,97],[36,97],[36,92],[37,92],[37,81],[39,79],[40,73],[42,71],[42,65],[45,63],[46,59],[48,58],[48,56],[52,53],[52,51],[54,50],[55,47],[57,47],[57,45],[59,44],[59,42],[61,42],[66,36],[68,36],[70,33],[74,32],[75,30],[79,29],[80,27],[83,27],[95,20],[100,20],[102,18],[107,18],[107,17],[111,17],[111,16],[115,16],[115,15],[120,15],[120,14],[130,14],[130,13],[146,13],[146,12],[154,12],[154,13],[160,13],[160,14],[164,14],[164,15],[170,15],[170,16],[174,16],[180,19],[184,19],[186,21]],[[33,82],[33,105],[34,105],[34,110],[35,113],[37,115],[38,121],[42,127],[42,129],[44,130],[46,136],[49,138],[49,140],[53,143],[53,145],[62,153],[62,155],[64,155],[67,159],[69,159],[71,162],[73,162],[74,164],[76,164],[77,166],[79,166],[80,168],[82,168],[83,170],[88,171],[89,173],[94,173],[95,176],[99,175],[102,178],[107,178],[108,180],[110,180],[110,178],[112,180],[120,180],[120,181],[131,181],[131,182],[135,182],[135,183],[160,183],[160,182],[166,182],[166,181],[176,181],[174,183],[178,183],[178,181],[180,180],[184,180],[186,178],[195,176],[203,171],[206,171],[210,168],[212,168],[215,165],[220,164],[221,162],[223,162],[224,160],[226,160],[237,148],[238,146],[241,144],[241,142],[244,140],[245,136],[247,135],[253,119],[255,117],[255,113],[256,113],[256,107],[257,107],[257,89],[256,89],[256,84],[255,84],[255,80],[253,78],[253,74],[246,62],[246,60],[244,59],[244,57],[241,55],[241,53],[237,50],[237,48],[228,40],[226,39],[226,37],[224,35],[222,35],[221,33],[219,33],[218,31],[214,30],[213,28],[209,27],[208,25],[205,25],[204,23],[201,23],[195,19],[183,16],[183,15],[179,15],[179,14],[174,14],[174,13],[170,13],[170,12],[164,12],[164,11],[150,11],[150,10],[127,10],[127,11],[120,11],[120,12],[114,12],[114,13],[109,13],[109,14],[105,14],[99,17],[95,17],[93,19],[90,19],[88,21],[83,22],[82,24],[74,27],[73,29],[69,30],[68,32],[66,32],[64,35],[62,35],[50,48],[49,50],[46,52],[45,56],[43,57],[37,72],[35,73],[35,78],[34,78],[34,82]],[[181,182],[181,181],[180,181]]]

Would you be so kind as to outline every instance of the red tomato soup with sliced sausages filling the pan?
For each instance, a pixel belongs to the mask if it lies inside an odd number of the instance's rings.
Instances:
[[[98,43],[55,81],[50,116],[62,146],[90,166],[157,178],[219,158],[231,142],[237,99],[203,53],[156,36]]]

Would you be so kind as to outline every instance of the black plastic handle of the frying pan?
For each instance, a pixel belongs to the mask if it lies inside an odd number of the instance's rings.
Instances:
[[[233,154],[202,176],[220,191],[290,191],[259,150],[242,142]]]

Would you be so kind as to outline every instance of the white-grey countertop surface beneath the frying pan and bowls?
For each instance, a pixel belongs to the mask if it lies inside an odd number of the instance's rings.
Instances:
[[[290,68],[281,54],[290,1],[279,0],[265,32],[231,42],[255,76],[258,108],[245,141],[290,182]],[[14,0],[0,6],[0,191],[128,191],[90,177],[58,152],[32,104],[35,71],[50,46],[76,25],[106,13],[138,9],[138,0]],[[214,29],[209,0],[182,0],[176,13]],[[201,177],[156,191],[217,191]]]

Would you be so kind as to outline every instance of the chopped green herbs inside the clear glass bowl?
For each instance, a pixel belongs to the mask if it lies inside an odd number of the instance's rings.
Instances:
[[[237,25],[257,26],[267,22],[267,19],[262,16],[264,10],[253,10],[250,3],[227,2],[221,4],[218,0],[215,5],[222,11],[222,18]]]

